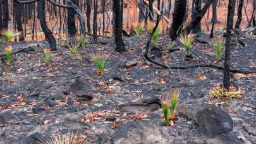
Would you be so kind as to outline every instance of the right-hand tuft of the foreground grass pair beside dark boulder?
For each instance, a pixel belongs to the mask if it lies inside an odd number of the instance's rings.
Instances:
[[[170,107],[170,119],[176,119],[176,112],[175,109],[178,105],[178,99],[180,97],[180,89],[176,88],[173,90],[173,92],[171,93],[172,98],[171,98],[171,107]]]

